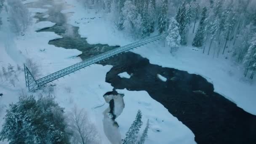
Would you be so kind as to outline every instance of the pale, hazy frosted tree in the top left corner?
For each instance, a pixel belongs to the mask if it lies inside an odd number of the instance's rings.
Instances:
[[[7,0],[7,4],[13,32],[20,35],[24,33],[29,24],[31,24],[32,19],[29,10],[21,3],[21,0]]]

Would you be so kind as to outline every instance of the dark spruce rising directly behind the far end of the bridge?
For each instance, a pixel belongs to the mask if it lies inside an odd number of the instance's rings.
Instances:
[[[166,16],[167,11],[168,11],[168,0],[164,0],[160,15],[158,17],[158,31],[160,34],[167,30],[167,16]]]

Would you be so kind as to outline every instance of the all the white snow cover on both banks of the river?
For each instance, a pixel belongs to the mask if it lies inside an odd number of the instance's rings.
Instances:
[[[32,2],[27,0],[23,3]],[[35,0],[34,0],[35,1]],[[109,44],[109,45],[126,45],[131,43],[133,39],[125,33],[117,31],[106,14],[95,14],[93,10],[90,13],[84,9],[83,5],[75,0],[65,0],[68,4],[74,5],[67,11],[74,12],[69,18],[69,23],[80,27],[79,33],[82,37],[88,37],[88,43]],[[31,13],[45,13],[47,7],[43,9],[29,8]],[[14,37],[8,33],[9,25],[6,23],[5,13],[3,15],[3,26],[0,30],[0,65],[7,67],[8,63],[16,66],[21,65],[27,58],[33,59],[40,65],[41,75],[51,74],[60,69],[68,67],[72,64],[80,62],[81,59],[76,57],[80,55],[80,51],[75,49],[57,48],[48,45],[49,40],[60,38],[53,32],[40,32],[35,30],[45,27],[51,27],[51,22],[33,24],[24,36]],[[45,14],[46,15],[46,14]],[[95,17],[95,18],[94,18]],[[94,19],[85,19],[94,18]],[[171,55],[169,48],[162,47],[162,43],[146,45],[138,48],[133,52],[139,53],[141,56],[149,59],[150,63],[158,64],[163,67],[172,67],[189,73],[199,74],[205,77],[209,82],[213,83],[215,91],[234,101],[238,107],[245,111],[256,115],[254,104],[256,103],[255,83],[249,82],[242,78],[242,70],[235,64],[223,61],[222,58],[212,59],[211,56],[202,54],[201,50],[195,51],[191,47],[182,47]],[[97,125],[100,133],[102,144],[109,144],[107,137],[103,131],[103,112],[108,105],[104,104],[103,95],[107,91],[112,91],[112,86],[105,82],[106,73],[112,66],[101,66],[95,64],[86,67],[81,71],[75,72],[69,76],[54,81],[54,96],[61,107],[65,107],[65,111],[70,111],[72,107],[77,105],[79,108],[85,108],[90,115],[91,120]],[[127,75],[126,75],[127,76]],[[126,77],[124,76],[124,77]],[[19,94],[26,92],[24,73],[19,72],[19,81],[16,87],[13,87],[8,81],[0,83],[0,119],[5,115],[5,109],[8,104],[16,102]],[[163,105],[153,100],[145,91],[127,91],[118,90],[124,93],[125,108],[122,114],[117,118],[120,133],[124,138],[125,132],[133,122],[136,112],[141,109],[143,122],[149,119],[150,129],[149,138],[146,144],[194,144],[194,134],[192,131],[182,124],[176,117],[173,117]],[[45,91],[37,91],[36,93],[28,93],[39,95]],[[102,107],[102,104],[104,104]],[[0,121],[0,125],[3,120]],[[143,125],[144,128],[144,125]],[[142,129],[143,129],[142,128]],[[0,128],[1,130],[1,128]],[[1,142],[0,142],[1,143]]]

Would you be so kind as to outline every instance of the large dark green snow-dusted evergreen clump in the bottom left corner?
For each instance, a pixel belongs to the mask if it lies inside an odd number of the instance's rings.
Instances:
[[[69,144],[65,132],[64,108],[52,96],[20,96],[10,104],[4,118],[0,140],[10,144]]]

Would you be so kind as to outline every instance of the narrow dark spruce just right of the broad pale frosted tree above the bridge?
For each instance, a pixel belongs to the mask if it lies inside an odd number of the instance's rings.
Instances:
[[[150,23],[149,23],[149,15],[148,15],[148,8],[147,4],[144,4],[144,11],[143,11],[143,18],[142,18],[142,25],[141,25],[141,31],[142,31],[142,37],[148,37],[150,35]]]

